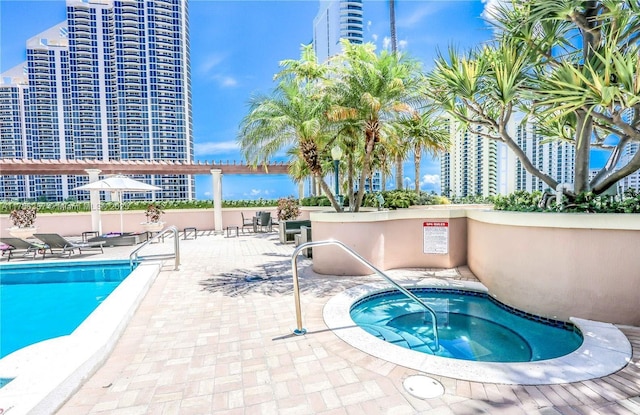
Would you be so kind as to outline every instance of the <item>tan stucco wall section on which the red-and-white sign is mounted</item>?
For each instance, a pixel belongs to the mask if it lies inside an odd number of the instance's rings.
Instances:
[[[381,270],[403,267],[451,268],[466,263],[463,210],[402,209],[359,213],[311,213],[314,241],[337,239]],[[448,254],[424,253],[425,221],[449,223]],[[335,246],[313,248],[313,270],[330,275],[372,271]]]

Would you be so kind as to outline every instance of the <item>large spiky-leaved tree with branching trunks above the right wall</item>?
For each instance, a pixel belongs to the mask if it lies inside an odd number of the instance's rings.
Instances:
[[[440,54],[429,95],[463,129],[504,143],[523,167],[555,190],[508,125],[514,114],[547,140],[575,148],[573,189],[602,194],[640,169],[640,3],[637,1],[513,0],[496,7],[496,41],[468,52]],[[608,151],[590,178],[594,148]]]

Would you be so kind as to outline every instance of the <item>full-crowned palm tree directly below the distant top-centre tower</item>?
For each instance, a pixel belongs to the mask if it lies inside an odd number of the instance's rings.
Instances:
[[[343,50],[341,61],[333,66],[336,76],[327,86],[333,102],[328,118],[355,123],[364,136],[362,171],[354,206],[358,211],[376,146],[388,138],[390,125],[416,112],[422,99],[420,68],[416,61],[403,56],[396,57],[386,51],[377,55],[372,44],[343,41]]]

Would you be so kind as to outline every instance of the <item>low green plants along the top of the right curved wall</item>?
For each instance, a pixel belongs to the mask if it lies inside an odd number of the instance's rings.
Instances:
[[[495,210],[515,212],[573,212],[573,213],[640,213],[640,192],[628,189],[623,195],[580,193],[572,200],[563,197],[556,205],[555,195],[549,192],[517,191],[493,198]]]

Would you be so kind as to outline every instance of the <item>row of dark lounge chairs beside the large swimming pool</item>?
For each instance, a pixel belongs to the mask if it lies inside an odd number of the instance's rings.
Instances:
[[[82,253],[83,249],[99,249],[100,252],[104,252],[102,249],[105,244],[104,241],[75,242],[57,233],[36,233],[33,236],[37,238],[38,241],[32,242],[20,238],[1,237],[0,244],[2,245],[0,245],[0,250],[2,251],[2,256],[6,255],[7,261],[10,261],[11,258],[18,253],[24,257],[32,256],[34,259],[42,255],[42,259],[44,259],[47,252],[51,255],[66,257],[70,257],[76,249],[79,253]]]

